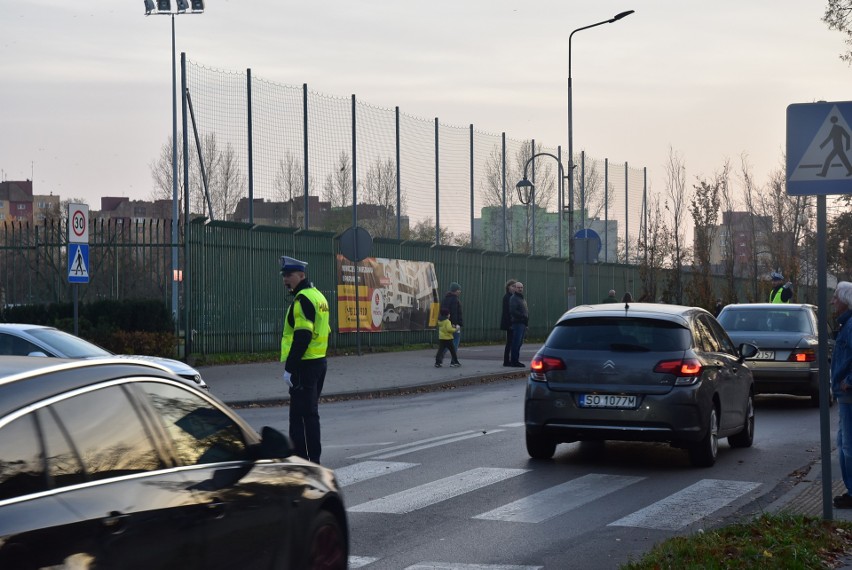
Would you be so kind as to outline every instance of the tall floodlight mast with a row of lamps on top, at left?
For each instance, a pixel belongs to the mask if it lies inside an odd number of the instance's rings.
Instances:
[[[172,318],[175,334],[178,326],[178,282],[182,278],[178,264],[178,173],[177,173],[177,62],[175,60],[175,16],[202,14],[204,0],[177,0],[177,10],[172,12],[171,0],[144,0],[146,16],[171,16],[172,19]],[[191,4],[191,7],[190,7]],[[184,157],[186,160],[186,157]]]

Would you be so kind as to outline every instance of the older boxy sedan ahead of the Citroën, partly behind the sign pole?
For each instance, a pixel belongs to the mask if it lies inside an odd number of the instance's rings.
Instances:
[[[757,345],[757,354],[748,361],[756,393],[810,396],[811,404],[819,406],[819,321],[815,305],[728,305],[719,313],[719,322],[734,342]],[[827,326],[825,334],[831,360],[834,339]],[[829,403],[832,401],[829,395]]]

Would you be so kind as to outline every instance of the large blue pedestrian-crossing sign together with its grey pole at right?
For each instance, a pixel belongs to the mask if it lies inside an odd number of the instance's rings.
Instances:
[[[852,102],[798,103],[787,107],[787,194],[816,196],[817,320],[819,330],[819,423],[822,514],[833,516],[828,363],[828,263],[826,199],[852,194]]]

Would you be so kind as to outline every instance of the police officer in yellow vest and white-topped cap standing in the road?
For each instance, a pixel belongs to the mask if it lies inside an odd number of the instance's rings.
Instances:
[[[328,301],[305,279],[307,263],[281,256],[281,277],[293,295],[284,317],[281,362],[284,381],[290,387],[290,439],[294,453],[320,462],[319,397],[328,363]]]

